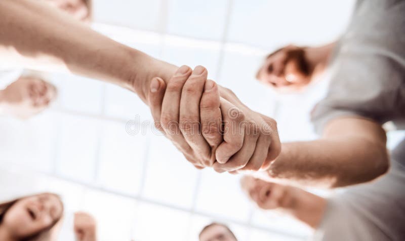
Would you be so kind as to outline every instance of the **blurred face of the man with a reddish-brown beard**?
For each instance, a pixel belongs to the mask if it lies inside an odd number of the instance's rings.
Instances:
[[[262,83],[282,92],[303,89],[310,82],[304,50],[289,46],[273,53],[266,59],[257,78]]]

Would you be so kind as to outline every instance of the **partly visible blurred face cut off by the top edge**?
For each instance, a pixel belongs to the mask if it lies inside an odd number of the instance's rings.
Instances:
[[[53,6],[67,12],[75,19],[86,21],[90,18],[90,9],[84,0],[47,0]]]

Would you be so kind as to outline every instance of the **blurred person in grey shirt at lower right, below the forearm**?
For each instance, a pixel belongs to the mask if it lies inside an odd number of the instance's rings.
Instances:
[[[280,210],[313,228],[313,240],[400,241],[405,238],[405,140],[391,152],[389,172],[370,183],[323,198],[251,176],[242,189],[263,210]]]

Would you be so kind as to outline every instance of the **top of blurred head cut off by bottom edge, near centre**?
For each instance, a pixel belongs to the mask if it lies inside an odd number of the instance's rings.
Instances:
[[[237,241],[235,234],[222,223],[205,226],[198,235],[199,241]]]

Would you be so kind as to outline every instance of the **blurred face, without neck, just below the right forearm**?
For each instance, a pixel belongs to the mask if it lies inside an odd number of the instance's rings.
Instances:
[[[251,176],[244,176],[240,181],[242,190],[259,206],[268,210],[289,207],[292,198],[292,187],[277,183],[265,182]]]

